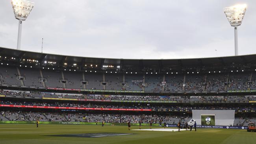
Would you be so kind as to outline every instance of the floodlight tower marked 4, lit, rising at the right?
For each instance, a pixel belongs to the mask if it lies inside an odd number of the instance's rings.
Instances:
[[[235,30],[235,55],[238,55],[237,27],[242,24],[243,17],[245,16],[246,7],[246,4],[242,4],[224,8],[224,13],[228,18],[230,25],[234,26]]]

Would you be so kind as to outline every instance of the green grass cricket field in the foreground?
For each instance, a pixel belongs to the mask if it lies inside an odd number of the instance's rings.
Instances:
[[[132,126],[138,129],[138,126]],[[149,127],[142,127],[148,129]],[[161,127],[152,127],[161,128]],[[100,138],[55,137],[82,133],[134,133]],[[246,129],[195,131],[129,131],[127,126],[0,124],[0,144],[255,144],[256,132]]]

